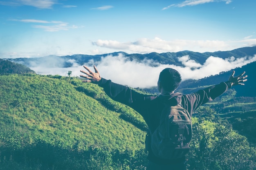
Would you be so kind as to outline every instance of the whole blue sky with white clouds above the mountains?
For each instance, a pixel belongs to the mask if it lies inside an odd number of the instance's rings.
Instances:
[[[256,45],[255,0],[0,0],[0,58]]]

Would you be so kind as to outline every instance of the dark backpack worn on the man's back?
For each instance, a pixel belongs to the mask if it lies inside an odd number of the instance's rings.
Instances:
[[[151,135],[151,150],[161,159],[179,159],[189,152],[192,122],[189,112],[179,105],[165,104],[160,124]]]

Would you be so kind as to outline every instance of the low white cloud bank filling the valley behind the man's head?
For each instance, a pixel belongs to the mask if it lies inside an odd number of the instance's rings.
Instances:
[[[210,56],[204,64],[199,64],[191,60],[188,55],[180,57],[179,60],[182,62],[183,66],[159,64],[155,63],[153,60],[143,60],[142,62],[130,61],[119,54],[117,56],[108,55],[107,57],[102,57],[100,62],[90,60],[90,62],[84,63],[84,65],[92,66],[95,64],[101,77],[111,79],[113,82],[135,88],[147,88],[157,86],[159,73],[167,67],[179,71],[182,75],[182,80],[201,79],[254,62],[256,61],[256,55],[254,57],[242,57],[237,59],[234,57],[222,59]],[[84,68],[77,64],[75,60],[67,61],[72,64],[69,68],[56,67],[56,65],[60,66],[64,62],[64,60],[47,60],[42,65],[34,64],[34,67],[31,67],[31,69],[43,75],[67,76],[68,71],[72,71],[73,76],[81,75],[80,70]],[[154,66],[152,66],[152,63]],[[89,68],[94,71],[92,67]]]

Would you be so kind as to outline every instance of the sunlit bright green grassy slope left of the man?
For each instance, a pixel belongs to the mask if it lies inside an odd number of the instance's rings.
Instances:
[[[28,131],[53,144],[72,145],[79,140],[90,146],[119,150],[144,147],[143,131],[119,118],[120,113],[77,91],[74,84],[103,94],[101,88],[71,79],[41,75],[0,76],[1,130]]]

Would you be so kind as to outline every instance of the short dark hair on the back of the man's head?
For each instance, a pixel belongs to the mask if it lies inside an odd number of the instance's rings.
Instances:
[[[161,82],[164,90],[173,92],[180,86],[180,73],[173,68],[165,68],[159,74],[159,82]]]

